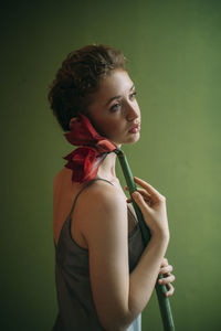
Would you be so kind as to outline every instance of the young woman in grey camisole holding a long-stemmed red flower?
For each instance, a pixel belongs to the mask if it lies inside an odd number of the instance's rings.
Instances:
[[[64,131],[80,114],[120,147],[139,140],[140,110],[135,84],[120,51],[88,45],[69,54],[50,88],[49,100]],[[74,135],[74,132],[73,132]],[[77,132],[76,132],[77,135]],[[144,246],[136,214],[115,173],[109,152],[96,177],[73,182],[63,168],[53,185],[53,235],[59,314],[53,331],[140,331],[141,311],[157,276],[173,293],[166,199],[139,178],[134,199],[151,232]],[[125,188],[127,190],[127,186]]]

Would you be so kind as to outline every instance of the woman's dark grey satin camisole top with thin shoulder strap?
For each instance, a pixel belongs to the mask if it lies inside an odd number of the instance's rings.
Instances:
[[[93,301],[88,250],[78,246],[71,235],[71,215],[81,192],[91,185],[90,181],[76,195],[72,210],[65,220],[57,245],[55,245],[55,285],[59,313],[52,331],[104,331]],[[106,181],[110,183],[109,181]],[[113,185],[113,183],[110,183]],[[129,273],[137,265],[145,248],[137,218],[128,207],[128,218],[136,221],[128,234]],[[72,221],[74,222],[74,220]],[[141,331],[141,313],[126,331]]]

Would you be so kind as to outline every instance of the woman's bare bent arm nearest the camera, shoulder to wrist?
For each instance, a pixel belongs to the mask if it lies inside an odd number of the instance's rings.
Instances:
[[[169,241],[167,231],[161,231],[167,225],[155,224],[154,235],[129,275],[124,196],[116,188],[96,182],[85,191],[84,202],[80,199],[78,207],[88,244],[91,285],[98,318],[107,331],[125,330],[149,301]]]

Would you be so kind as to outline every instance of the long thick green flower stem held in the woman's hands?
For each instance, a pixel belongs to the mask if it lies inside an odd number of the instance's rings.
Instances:
[[[136,204],[136,202],[134,201],[134,199],[131,196],[131,193],[137,191],[137,186],[135,184],[134,177],[131,174],[129,164],[127,162],[127,158],[124,154],[123,150],[117,148],[114,152],[118,157],[118,160],[119,160],[119,163],[120,163],[120,167],[122,167],[122,170],[123,170],[123,173],[124,173],[124,177],[125,177],[128,190],[129,190],[129,194],[130,194],[130,197],[133,201],[133,206],[135,209],[137,220],[139,222],[143,242],[144,242],[145,246],[147,246],[147,244],[149,243],[149,239],[150,239],[150,231],[143,217],[140,209],[138,207],[138,205]],[[160,279],[160,278],[164,278],[164,276],[159,275],[158,279]],[[170,309],[169,298],[166,297],[166,292],[167,292],[166,285],[159,285],[158,282],[156,282],[155,289],[157,292],[164,330],[165,331],[175,331],[175,323],[173,323],[173,319],[172,319],[172,312]]]

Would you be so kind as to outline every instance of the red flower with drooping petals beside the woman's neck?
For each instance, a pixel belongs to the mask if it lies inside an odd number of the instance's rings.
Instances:
[[[70,129],[70,132],[64,134],[66,140],[83,147],[64,157],[69,161],[64,167],[73,170],[73,182],[90,181],[96,177],[106,154],[114,151],[117,146],[99,136],[83,114],[71,120]]]

